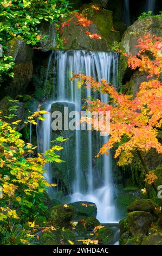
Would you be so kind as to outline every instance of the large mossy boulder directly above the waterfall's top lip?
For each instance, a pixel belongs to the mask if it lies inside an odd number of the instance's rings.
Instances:
[[[69,26],[62,29],[61,38],[64,40],[63,48],[65,50],[92,50],[92,51],[110,51],[114,41],[120,41],[120,32],[113,29],[112,11],[102,9],[92,9],[92,4],[84,4],[82,10],[86,10],[87,19],[93,23],[87,28],[77,26],[77,19],[74,17]],[[63,22],[67,22],[72,17],[68,16]],[[100,40],[90,39],[86,32],[101,35]]]

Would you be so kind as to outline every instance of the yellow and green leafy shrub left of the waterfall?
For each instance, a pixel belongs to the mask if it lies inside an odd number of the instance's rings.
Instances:
[[[25,124],[36,125],[35,119],[43,120],[47,111],[36,111],[28,117]],[[10,119],[11,114],[9,117]],[[11,121],[12,119],[10,119]],[[22,135],[17,131],[21,120],[4,121],[0,113],[0,221],[32,220],[46,210],[44,205],[44,192],[49,184],[44,178],[44,164],[48,162],[61,162],[60,156],[55,152],[63,149],[53,145],[46,153],[38,153],[30,143],[25,143]],[[57,138],[57,141],[63,141]],[[31,156],[30,156],[31,155]],[[30,213],[30,214],[29,214]],[[21,219],[20,219],[21,218]]]

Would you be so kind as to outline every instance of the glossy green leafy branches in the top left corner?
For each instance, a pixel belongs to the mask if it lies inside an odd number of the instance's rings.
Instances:
[[[67,0],[3,0],[0,4],[0,44],[5,52],[6,43],[12,38],[35,46],[41,39],[38,25],[43,21],[58,22],[70,8]],[[11,56],[0,59],[0,81],[2,74],[13,77],[14,62]]]

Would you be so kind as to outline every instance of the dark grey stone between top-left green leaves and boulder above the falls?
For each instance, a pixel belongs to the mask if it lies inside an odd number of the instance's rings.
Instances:
[[[38,26],[38,30],[40,31],[42,37],[48,35],[45,39],[40,40],[40,45],[38,48],[40,48],[40,50],[43,52],[55,50],[57,45],[55,22],[50,23],[48,21],[44,21],[40,24],[40,26]]]

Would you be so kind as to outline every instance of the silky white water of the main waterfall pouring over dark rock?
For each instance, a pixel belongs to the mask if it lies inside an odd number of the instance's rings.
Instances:
[[[54,66],[54,91],[55,96],[48,102],[46,110],[50,111],[52,103],[67,103],[73,106],[75,111],[81,111],[82,98],[95,97],[90,88],[79,89],[77,80],[71,81],[72,71],[77,74],[82,72],[87,76],[93,76],[97,81],[105,78],[115,86],[118,80],[118,53],[91,52],[91,51],[56,51],[53,53],[56,59]],[[53,58],[53,57],[52,57]],[[49,69],[49,65],[48,65]],[[48,75],[48,74],[47,74]],[[55,76],[55,75],[54,75]],[[86,90],[86,91],[85,91]],[[105,94],[98,95],[104,102],[108,101]],[[43,152],[50,147],[51,141],[51,115],[46,114],[46,121],[41,127]],[[77,120],[79,121],[79,120]],[[40,133],[39,132],[39,133]],[[83,147],[83,136],[87,141],[87,147]],[[94,137],[96,138],[94,145]],[[114,186],[112,180],[111,154],[101,157],[100,164],[94,166],[94,157],[99,148],[108,137],[100,137],[96,131],[75,131],[75,163],[74,179],[70,187],[71,202],[88,201],[96,204],[98,208],[97,218],[102,223],[117,222],[114,203]],[[87,153],[87,158],[83,153]],[[70,155],[70,151],[67,153]],[[66,166],[68,171],[68,165]],[[51,167],[46,166],[46,178],[51,182]],[[68,174],[67,174],[68,175]],[[70,181],[69,181],[70,182]]]

